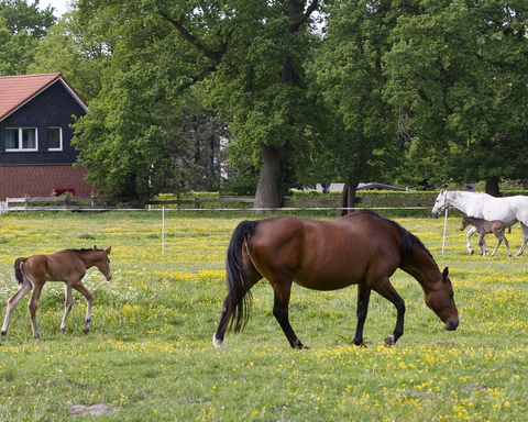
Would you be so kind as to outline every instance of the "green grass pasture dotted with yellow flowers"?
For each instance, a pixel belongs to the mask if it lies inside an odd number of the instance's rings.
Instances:
[[[248,218],[254,216],[166,212],[162,254],[160,212],[2,215],[2,321],[18,288],[19,256],[111,245],[113,278],[92,268],[84,279],[94,295],[88,335],[86,299],[75,291],[67,333],[59,330],[63,284],[44,287],[40,340],[32,336],[29,296],[20,302],[0,344],[0,420],[66,421],[74,406],[95,404],[116,410],[97,421],[528,420],[528,253],[508,257],[502,245],[493,258],[470,257],[460,218],[451,218],[442,255],[443,219],[393,214],[441,269],[449,266],[457,332],[443,330],[418,282],[398,270],[392,281],[407,312],[393,347],[383,345],[396,322],[385,299],[372,295],[362,348],[352,345],[355,287],[321,292],[294,285],[290,322],[310,348],[292,349],[263,280],[252,289],[246,329],[228,332],[226,348],[215,349],[226,249]],[[520,246],[518,224],[507,238],[513,249]]]

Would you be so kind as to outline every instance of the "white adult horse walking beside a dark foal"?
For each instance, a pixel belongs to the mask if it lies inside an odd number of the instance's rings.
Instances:
[[[513,225],[520,222],[522,227],[522,245],[515,256],[522,254],[528,242],[528,197],[516,196],[495,198],[482,192],[463,192],[442,190],[432,207],[432,215],[438,219],[440,212],[447,207],[454,207],[465,212],[469,216],[484,220],[501,220],[502,222]],[[473,253],[471,248],[471,236],[476,232],[473,227],[468,232],[468,251]],[[484,241],[484,247],[487,251]]]

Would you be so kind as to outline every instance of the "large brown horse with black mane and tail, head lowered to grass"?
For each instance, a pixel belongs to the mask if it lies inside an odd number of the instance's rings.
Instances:
[[[389,277],[402,268],[418,280],[426,303],[457,330],[459,313],[448,268],[440,273],[424,244],[394,221],[372,211],[360,211],[336,221],[272,216],[243,221],[234,230],[227,256],[228,296],[212,337],[221,347],[228,325],[245,326],[250,289],[265,277],[273,287],[273,314],[294,348],[304,348],[288,320],[292,284],[315,290],[336,290],[358,285],[355,345],[363,344],[371,291],[389,300],[397,310],[396,327],[385,338],[392,345],[404,333],[405,303]],[[229,324],[231,320],[231,324]]]

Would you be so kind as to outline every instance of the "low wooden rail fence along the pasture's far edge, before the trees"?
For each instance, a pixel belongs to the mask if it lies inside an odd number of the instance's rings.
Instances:
[[[44,211],[44,210],[70,210],[70,211],[108,211],[117,209],[117,204],[128,201],[130,198],[110,198],[110,197],[35,197],[35,198],[8,198],[0,212],[3,211]],[[176,206],[177,210],[207,209],[207,204],[217,203],[218,210],[227,209],[229,203],[254,203],[254,197],[222,197],[207,199],[174,199],[167,201],[152,200],[146,206]],[[430,208],[435,199],[429,198],[367,198],[356,197],[355,206],[374,207],[422,207]],[[284,208],[338,208],[339,199],[315,199],[284,201]]]

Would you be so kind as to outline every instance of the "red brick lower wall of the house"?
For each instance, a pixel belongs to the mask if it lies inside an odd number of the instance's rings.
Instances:
[[[1,166],[0,201],[6,198],[50,197],[55,189],[75,189],[76,197],[89,197],[97,189],[82,179],[86,169],[72,166]]]

